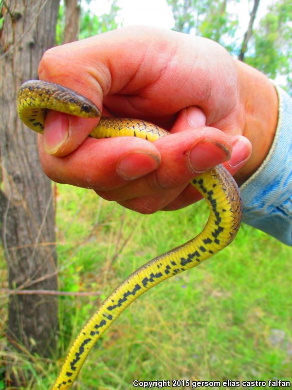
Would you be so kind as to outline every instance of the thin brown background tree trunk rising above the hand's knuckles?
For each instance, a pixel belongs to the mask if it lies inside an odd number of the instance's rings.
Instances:
[[[78,0],[66,0],[64,43],[77,40],[79,34],[80,5]]]

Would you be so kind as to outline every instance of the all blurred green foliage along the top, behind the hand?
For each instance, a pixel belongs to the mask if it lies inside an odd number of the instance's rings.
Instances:
[[[116,21],[121,10],[118,0],[107,1],[109,12],[99,16],[92,12],[91,0],[81,3],[79,39],[119,27]],[[238,2],[239,0],[167,0],[173,12],[175,31],[215,40],[235,57],[240,53],[243,44],[242,37],[236,36],[240,15],[234,11],[234,4]],[[252,3],[250,5],[252,8]],[[58,44],[63,41],[64,7],[64,2],[61,2],[56,34]],[[291,22],[291,0],[272,3],[253,29],[244,59],[268,77],[278,78],[288,92],[292,92]],[[280,76],[282,78],[279,78]]]

